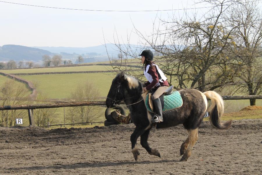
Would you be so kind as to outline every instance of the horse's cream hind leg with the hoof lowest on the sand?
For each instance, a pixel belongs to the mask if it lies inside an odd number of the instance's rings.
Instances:
[[[188,130],[188,133],[189,133],[189,135],[188,135],[188,138],[189,138],[188,139],[188,145],[187,145],[187,148],[186,148],[186,150],[184,152],[184,155],[182,156],[180,161],[187,161],[188,157],[190,157],[191,150],[192,150],[194,144],[196,143],[196,141],[198,139],[197,131],[198,131],[198,128]],[[180,149],[180,153],[181,153],[181,149]]]

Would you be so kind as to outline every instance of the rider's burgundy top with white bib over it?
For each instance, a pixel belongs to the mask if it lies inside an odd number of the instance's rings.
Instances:
[[[152,67],[148,64],[144,70],[144,75],[146,79],[148,80],[145,83],[146,90],[150,90],[153,87],[160,87],[160,86],[169,86],[167,77],[164,75],[164,73],[159,69],[159,67],[156,64],[153,64],[155,66],[155,70],[152,69]]]

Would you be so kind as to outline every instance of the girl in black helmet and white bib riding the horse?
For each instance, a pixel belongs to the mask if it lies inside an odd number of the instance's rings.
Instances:
[[[169,84],[167,81],[167,77],[164,76],[164,73],[159,69],[159,67],[153,62],[154,54],[151,50],[144,50],[139,56],[141,56],[141,60],[143,63],[143,67],[145,66],[144,75],[148,80],[145,83],[145,87],[143,88],[143,92],[150,90],[151,88],[157,88],[155,93],[152,95],[152,100],[155,108],[155,115],[153,116],[152,122],[162,122],[163,121],[163,112],[162,112],[162,104],[159,97],[167,90]]]

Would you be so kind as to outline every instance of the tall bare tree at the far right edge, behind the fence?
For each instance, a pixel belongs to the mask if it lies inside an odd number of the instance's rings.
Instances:
[[[262,93],[262,13],[257,2],[239,3],[229,9],[227,22],[235,27],[234,52],[238,92]],[[256,99],[250,99],[256,105]]]

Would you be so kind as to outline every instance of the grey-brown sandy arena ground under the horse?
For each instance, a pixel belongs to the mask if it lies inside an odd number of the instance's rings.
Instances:
[[[179,149],[187,137],[182,125],[151,132],[151,147],[140,145],[134,161],[130,135],[134,125],[46,130],[0,127],[0,174],[261,174],[262,119],[233,121],[227,130],[199,128],[187,162]]]

